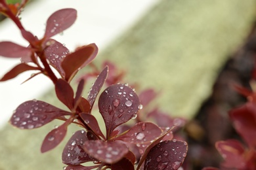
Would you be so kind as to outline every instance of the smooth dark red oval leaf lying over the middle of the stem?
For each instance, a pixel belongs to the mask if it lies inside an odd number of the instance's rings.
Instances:
[[[68,107],[68,109],[73,109],[73,101],[74,101],[74,92],[70,84],[59,78],[55,84],[55,92],[58,99],[64,103]]]

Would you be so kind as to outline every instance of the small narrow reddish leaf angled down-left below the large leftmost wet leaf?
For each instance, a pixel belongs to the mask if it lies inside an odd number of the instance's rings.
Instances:
[[[68,125],[71,122],[72,122],[72,118],[66,120],[64,124],[53,129],[46,135],[45,139],[43,140],[43,144],[41,146],[42,153],[55,148],[56,146],[58,146],[58,144],[60,144],[63,141],[67,133]]]

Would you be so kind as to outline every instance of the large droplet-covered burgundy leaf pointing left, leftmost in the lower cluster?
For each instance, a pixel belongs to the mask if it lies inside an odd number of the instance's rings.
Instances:
[[[14,110],[11,124],[20,129],[33,129],[48,124],[55,118],[69,115],[70,112],[58,109],[44,101],[26,101]]]

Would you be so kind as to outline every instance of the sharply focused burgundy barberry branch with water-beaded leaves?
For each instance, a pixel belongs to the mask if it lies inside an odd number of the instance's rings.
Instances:
[[[39,39],[20,22],[19,14],[26,3],[24,0],[20,4],[8,5],[0,0],[0,12],[16,24],[22,37],[29,43],[25,47],[14,42],[0,42],[0,56],[21,60],[0,81],[10,80],[25,71],[37,71],[27,80],[40,74],[47,76],[54,84],[58,100],[68,110],[32,99],[15,109],[10,120],[12,126],[34,129],[54,119],[62,120],[64,123],[61,126],[45,136],[41,145],[42,153],[62,142],[70,124],[81,127],[64,147],[64,169],[179,169],[186,157],[188,146],[186,142],[173,139],[173,135],[170,135],[177,124],[160,127],[152,122],[138,121],[125,131],[119,129],[125,122],[137,118],[142,104],[135,90],[128,84],[110,84],[111,81],[107,79],[108,65],[97,74],[87,97],[83,97],[85,78],[79,79],[75,91],[70,86],[77,72],[89,65],[98,52],[96,44],[80,46],[70,52],[62,43],[52,39],[54,35],[74,24],[76,10],[61,9],[54,12],[47,20],[45,34]],[[108,87],[101,91],[106,81]],[[102,133],[98,120],[92,114],[97,97],[106,134]],[[92,162],[93,165],[82,164],[86,162]]]

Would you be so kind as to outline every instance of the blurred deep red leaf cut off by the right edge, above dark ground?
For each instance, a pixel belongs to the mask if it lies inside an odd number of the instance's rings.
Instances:
[[[236,131],[251,146],[256,146],[256,105],[248,102],[229,112]]]

